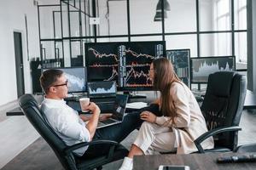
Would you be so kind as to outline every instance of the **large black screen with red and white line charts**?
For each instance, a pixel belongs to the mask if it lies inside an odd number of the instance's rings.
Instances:
[[[150,90],[149,68],[166,42],[85,43],[88,81],[116,81],[119,90]]]

